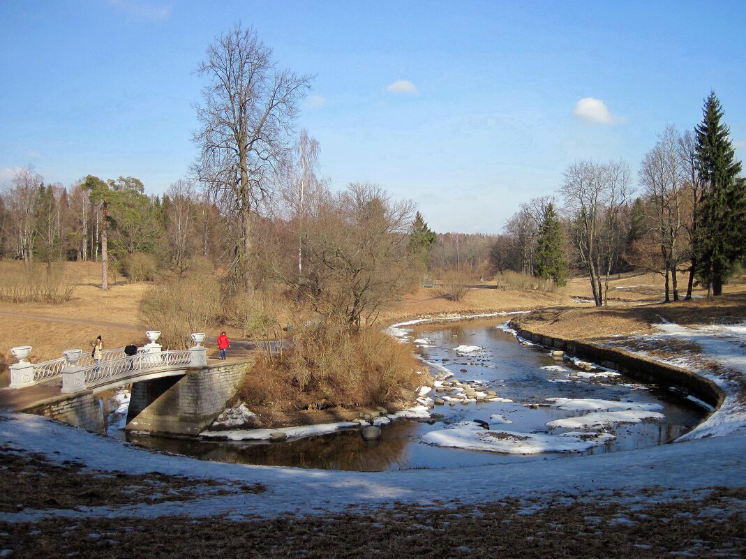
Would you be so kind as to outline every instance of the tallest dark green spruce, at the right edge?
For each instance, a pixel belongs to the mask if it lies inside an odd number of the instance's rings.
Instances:
[[[695,128],[697,167],[704,183],[695,257],[697,274],[707,286],[708,296],[721,295],[734,263],[746,249],[746,184],[738,177],[741,162],[735,158],[730,129],[721,123],[722,116],[720,101],[711,92],[702,122]]]

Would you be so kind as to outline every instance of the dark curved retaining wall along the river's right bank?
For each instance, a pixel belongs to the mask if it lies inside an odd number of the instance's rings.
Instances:
[[[724,391],[709,378],[704,378],[695,372],[677,366],[653,361],[641,355],[625,352],[623,349],[606,348],[597,346],[595,343],[577,342],[558,336],[536,334],[521,328],[516,322],[510,322],[510,327],[515,328],[518,335],[527,340],[593,360],[601,366],[618,370],[639,381],[686,390],[692,396],[707,402],[712,407],[721,405],[725,398]]]

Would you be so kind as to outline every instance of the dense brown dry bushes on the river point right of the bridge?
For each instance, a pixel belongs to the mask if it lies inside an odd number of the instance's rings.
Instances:
[[[308,325],[293,334],[282,358],[257,362],[241,396],[250,405],[282,401],[294,409],[401,407],[427,380],[418,365],[409,347],[376,328]]]

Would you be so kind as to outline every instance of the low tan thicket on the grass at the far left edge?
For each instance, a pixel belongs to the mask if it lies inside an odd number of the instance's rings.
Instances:
[[[6,262],[0,266],[0,299],[11,303],[60,305],[72,299],[76,284],[65,281],[61,263]]]

